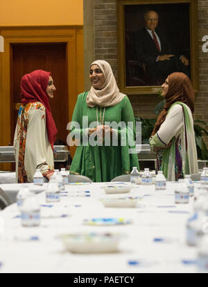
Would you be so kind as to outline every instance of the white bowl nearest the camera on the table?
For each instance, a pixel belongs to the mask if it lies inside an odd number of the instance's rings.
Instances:
[[[119,235],[113,233],[77,233],[61,236],[66,249],[73,253],[108,253],[119,251]]]

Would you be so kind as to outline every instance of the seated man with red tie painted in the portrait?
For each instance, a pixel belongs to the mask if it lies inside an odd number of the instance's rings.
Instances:
[[[166,35],[157,28],[158,21],[157,12],[146,12],[144,28],[136,31],[132,39],[135,60],[146,65],[148,85],[161,85],[173,72],[184,72],[190,77],[188,58],[175,51]]]

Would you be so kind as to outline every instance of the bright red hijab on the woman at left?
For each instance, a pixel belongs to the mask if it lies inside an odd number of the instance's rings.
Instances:
[[[51,73],[45,72],[42,69],[25,74],[21,78],[21,104],[26,105],[33,101],[40,101],[44,105],[46,108],[46,129],[53,149],[57,129],[51,114],[49,96],[46,93],[49,76],[51,76]]]

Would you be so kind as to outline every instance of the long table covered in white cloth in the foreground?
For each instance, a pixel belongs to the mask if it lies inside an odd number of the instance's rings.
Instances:
[[[178,183],[168,182],[166,190],[138,185],[130,193],[120,195],[141,197],[137,207],[108,208],[103,206],[101,198],[119,195],[106,195],[101,187],[107,184],[116,183],[69,184],[61,193],[60,202],[56,203],[46,202],[45,191],[35,195],[42,214],[39,227],[21,226],[16,203],[0,211],[0,273],[198,272],[198,248],[186,242],[186,224],[193,211],[193,197],[189,198],[189,204],[175,204],[174,189]],[[18,186],[14,184],[16,189]],[[29,188],[32,187],[30,183]],[[91,196],[72,197],[69,196],[71,190],[89,190]],[[132,223],[83,224],[86,218],[96,217],[119,217],[130,219]],[[65,249],[60,235],[76,231],[121,233],[119,252],[71,253]],[[37,240],[30,240],[34,236]]]

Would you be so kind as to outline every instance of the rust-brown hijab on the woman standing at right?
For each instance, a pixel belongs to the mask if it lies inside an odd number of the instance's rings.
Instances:
[[[168,92],[166,94],[166,104],[164,109],[157,117],[157,122],[153,129],[151,136],[154,136],[155,133],[159,130],[159,127],[166,119],[168,109],[171,108],[172,104],[176,101],[181,101],[184,104],[187,104],[191,109],[191,112],[194,111],[194,92],[191,85],[189,77],[181,72],[175,72],[168,76]]]

